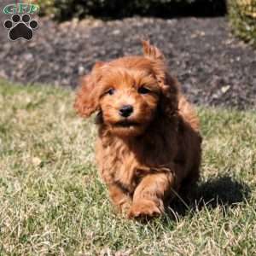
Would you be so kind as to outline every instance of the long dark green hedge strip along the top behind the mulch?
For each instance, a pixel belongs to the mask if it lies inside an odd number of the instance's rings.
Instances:
[[[41,14],[56,20],[95,16],[121,18],[131,15],[177,16],[225,13],[225,0],[33,0]]]

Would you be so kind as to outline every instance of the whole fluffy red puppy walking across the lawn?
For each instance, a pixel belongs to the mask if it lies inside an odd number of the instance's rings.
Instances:
[[[195,111],[159,49],[97,62],[74,108],[97,113],[96,162],[113,205],[128,218],[159,216],[179,189],[199,178],[201,135]]]

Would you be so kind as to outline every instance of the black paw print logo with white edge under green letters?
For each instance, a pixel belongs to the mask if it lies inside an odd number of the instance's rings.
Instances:
[[[30,15],[13,15],[11,20],[5,20],[3,26],[9,29],[9,39],[17,40],[24,38],[31,40],[33,37],[33,30],[38,28],[38,21],[31,20]]]

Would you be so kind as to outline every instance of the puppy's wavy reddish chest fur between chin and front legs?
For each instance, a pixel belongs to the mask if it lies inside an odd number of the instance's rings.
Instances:
[[[143,147],[144,146],[144,147]],[[148,150],[149,149],[149,150]],[[96,158],[99,172],[106,183],[118,183],[133,191],[140,179],[152,172],[152,168],[163,166],[168,160],[160,157],[153,145],[137,145],[133,148],[119,140],[97,142]]]

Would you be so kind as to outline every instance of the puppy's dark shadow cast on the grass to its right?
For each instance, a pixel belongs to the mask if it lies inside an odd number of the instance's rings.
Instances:
[[[224,176],[209,178],[206,182],[197,185],[188,195],[181,194],[172,201],[170,211],[171,217],[182,217],[186,214],[195,214],[203,207],[236,207],[237,203],[246,201],[250,196],[250,189],[246,183],[235,178]]]

